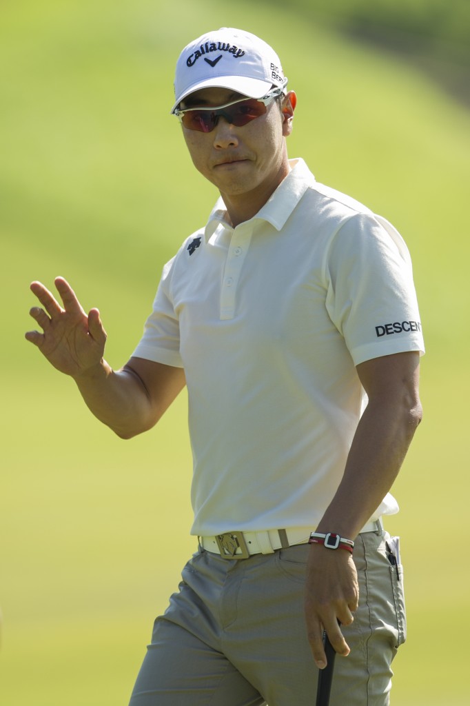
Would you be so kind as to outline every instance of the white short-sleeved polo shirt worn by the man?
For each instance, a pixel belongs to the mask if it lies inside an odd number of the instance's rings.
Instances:
[[[402,237],[291,167],[236,228],[217,201],[133,353],[186,373],[193,534],[316,527],[366,402],[355,366],[424,351]],[[396,511],[389,494],[376,514]]]

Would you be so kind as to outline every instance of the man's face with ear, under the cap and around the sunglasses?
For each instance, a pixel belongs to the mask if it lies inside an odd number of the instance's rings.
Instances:
[[[239,98],[243,95],[227,88],[203,88],[192,93],[182,107],[218,107]],[[284,112],[279,101],[287,105]],[[284,136],[291,131],[292,114],[289,97],[280,97],[267,105],[265,114],[242,127],[221,116],[212,132],[183,126],[183,136],[196,169],[222,196],[230,199],[269,192],[269,198],[289,172]]]

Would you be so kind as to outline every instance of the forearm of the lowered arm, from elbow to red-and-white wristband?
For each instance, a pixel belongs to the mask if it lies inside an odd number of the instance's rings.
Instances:
[[[369,402],[319,532],[356,537],[392,487],[419,421],[421,406],[407,397]]]

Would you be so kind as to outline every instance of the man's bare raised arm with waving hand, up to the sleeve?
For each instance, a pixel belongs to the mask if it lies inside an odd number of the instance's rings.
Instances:
[[[118,436],[131,438],[150,429],[183,389],[183,369],[131,358],[114,371],[103,358],[107,336],[99,311],[86,314],[66,280],[57,277],[55,284],[64,306],[40,282],[32,283],[42,307],[30,314],[42,333],[29,331],[27,340],[76,381],[91,412]]]

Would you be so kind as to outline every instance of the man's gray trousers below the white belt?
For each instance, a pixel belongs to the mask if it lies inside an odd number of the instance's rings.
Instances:
[[[403,572],[387,557],[387,537],[356,540],[360,604],[343,628],[351,653],[335,661],[330,706],[390,702],[390,665],[406,623]],[[293,546],[239,561],[195,554],[155,621],[130,706],[313,706],[318,669],[303,617],[308,551]]]

